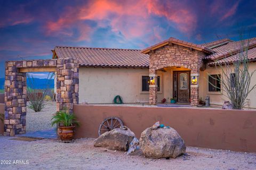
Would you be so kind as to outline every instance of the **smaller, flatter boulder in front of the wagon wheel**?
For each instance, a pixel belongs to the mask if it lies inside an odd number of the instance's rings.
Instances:
[[[104,147],[110,150],[127,151],[129,144],[135,137],[135,134],[130,129],[113,129],[105,132],[94,140],[94,147]]]

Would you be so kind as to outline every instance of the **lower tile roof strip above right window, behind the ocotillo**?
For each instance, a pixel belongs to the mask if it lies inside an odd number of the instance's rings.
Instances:
[[[248,50],[247,57],[250,61],[256,60],[256,47]],[[217,63],[220,63],[220,64],[233,63],[234,61],[237,61],[238,59],[239,59],[239,54],[235,54],[235,55],[232,55],[232,56],[229,56],[226,58],[222,58],[221,60],[218,60],[216,62],[211,62],[211,63],[209,63],[209,65],[214,66]]]

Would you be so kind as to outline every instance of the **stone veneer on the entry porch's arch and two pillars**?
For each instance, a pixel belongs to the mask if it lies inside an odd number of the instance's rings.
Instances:
[[[149,52],[149,74],[164,67],[184,67],[191,70],[191,74],[199,74],[200,66],[205,54],[201,51],[170,44]],[[190,102],[192,106],[198,105],[198,86],[190,86]],[[157,104],[157,91],[155,87],[149,88],[149,103]]]

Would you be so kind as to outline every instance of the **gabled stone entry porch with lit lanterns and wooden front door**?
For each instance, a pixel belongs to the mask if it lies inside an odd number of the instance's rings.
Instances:
[[[157,99],[156,83],[157,74],[161,71],[164,74],[167,72],[167,77],[170,75],[171,98],[191,106],[198,105],[199,70],[204,68],[205,55],[212,54],[211,49],[171,37],[143,49],[142,53],[149,54],[149,104],[156,105],[161,101]]]

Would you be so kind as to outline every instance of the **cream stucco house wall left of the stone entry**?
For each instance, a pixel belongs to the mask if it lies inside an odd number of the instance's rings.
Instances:
[[[149,94],[141,93],[142,75],[149,75],[149,70],[79,67],[79,103],[112,103],[116,95],[124,103],[148,103]],[[163,94],[158,97],[163,98]]]

